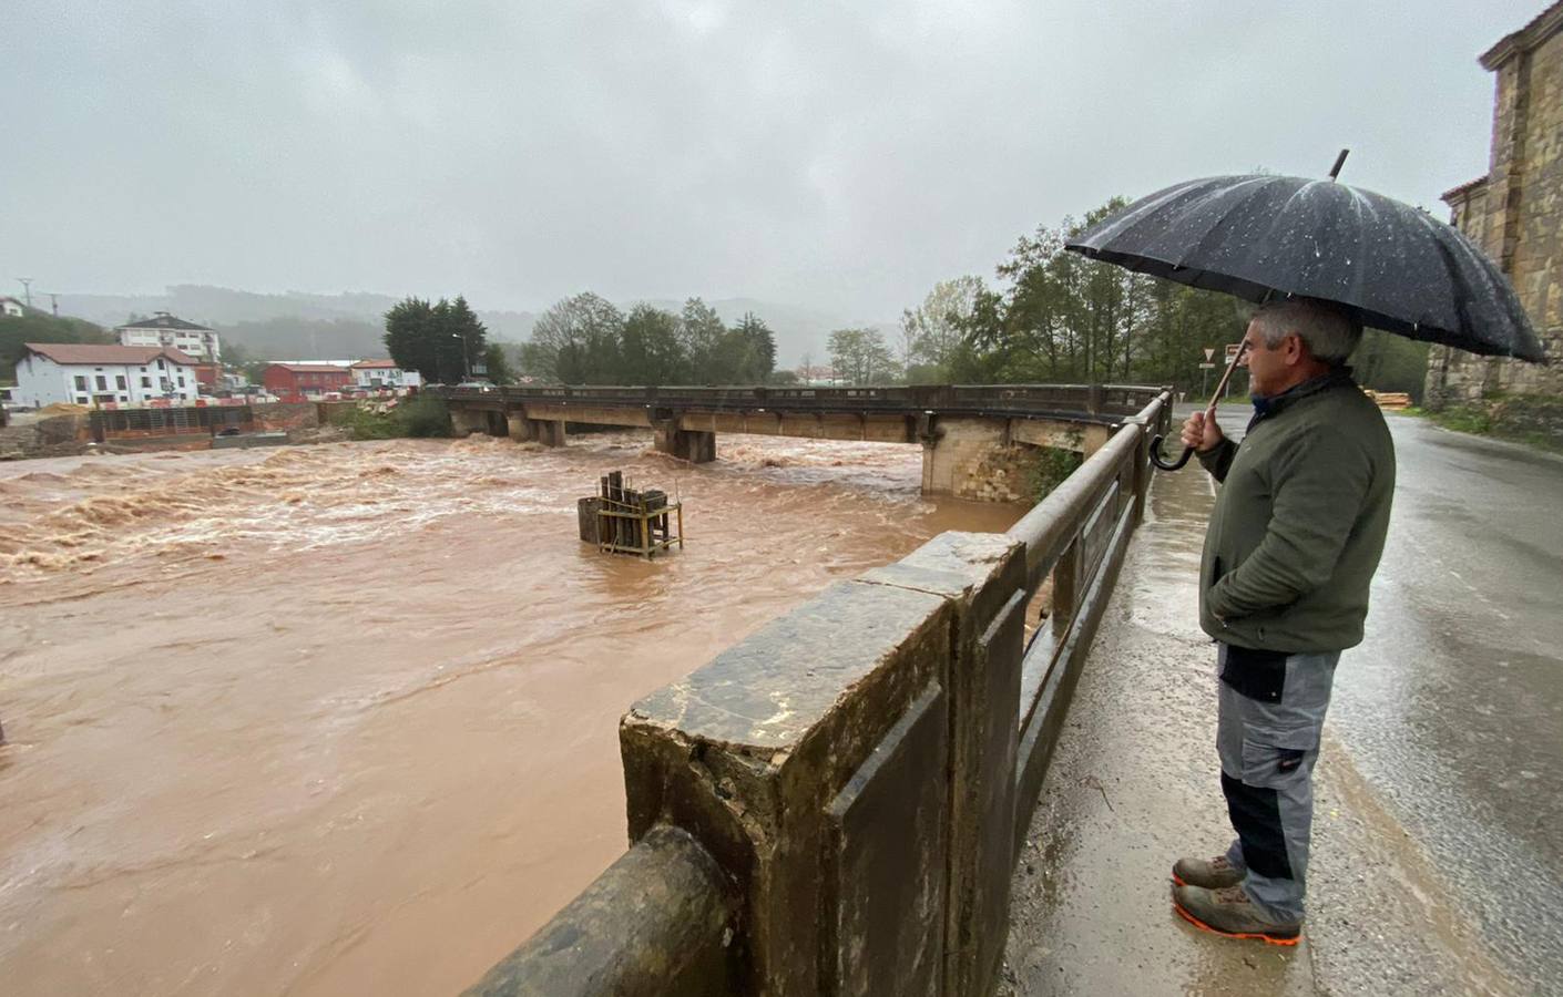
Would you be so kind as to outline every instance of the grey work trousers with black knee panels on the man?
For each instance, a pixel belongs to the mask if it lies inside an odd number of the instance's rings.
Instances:
[[[1286,655],[1218,645],[1216,752],[1236,839],[1227,861],[1269,916],[1302,920],[1313,763],[1339,652]]]

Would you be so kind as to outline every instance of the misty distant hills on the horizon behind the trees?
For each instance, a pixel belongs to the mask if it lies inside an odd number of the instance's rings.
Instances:
[[[224,344],[238,344],[253,358],[350,359],[384,355],[380,342],[381,316],[399,300],[397,295],[370,292],[258,294],[206,284],[175,284],[164,294],[63,294],[59,309],[106,328],[123,325],[131,316],[169,311],[213,327],[222,333]],[[617,302],[624,311],[638,303]],[[683,300],[646,303],[674,313],[683,308]],[[777,361],[783,367],[796,367],[805,355],[814,364],[828,363],[832,330],[867,325],[882,330],[886,341],[894,342],[899,328],[894,322],[864,322],[755,298],[706,303],[730,325],[750,311],[764,319],[777,336]],[[525,342],[538,320],[538,313],[531,311],[475,311],[489,334],[502,342]]]

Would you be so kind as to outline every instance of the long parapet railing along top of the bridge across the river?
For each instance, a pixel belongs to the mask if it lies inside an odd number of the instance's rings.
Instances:
[[[1132,416],[1157,394],[1135,384],[913,384],[894,388],[767,388],[767,386],[619,386],[555,384],[506,388],[438,388],[453,402],[481,405],[630,405],[716,411],[886,411],[886,413],[1014,413]]]

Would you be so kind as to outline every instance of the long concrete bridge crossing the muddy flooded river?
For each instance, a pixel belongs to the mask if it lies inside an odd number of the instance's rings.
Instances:
[[[436,388],[456,431],[549,447],[566,427],[650,428],[656,448],[716,459],[717,433],[922,444],[922,491],[1022,499],[1028,448],[1089,456],[1160,389],[1122,384],[919,388]]]

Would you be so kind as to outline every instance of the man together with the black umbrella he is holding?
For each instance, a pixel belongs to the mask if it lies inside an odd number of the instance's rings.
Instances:
[[[1216,858],[1179,859],[1172,902],[1200,928],[1282,945],[1302,934],[1313,764],[1335,666],[1363,638],[1394,492],[1388,427],[1346,358],[1364,322],[1543,358],[1513,288],[1480,250],[1424,211],[1335,183],[1343,161],[1329,181],[1177,184],[1068,245],[1261,305],[1232,361],[1246,358],[1254,394],[1241,445],[1216,425],[1214,403],[1182,431],[1183,459],[1197,453],[1222,481],[1200,561],[1200,627],[1218,642],[1216,749],[1236,839]]]

